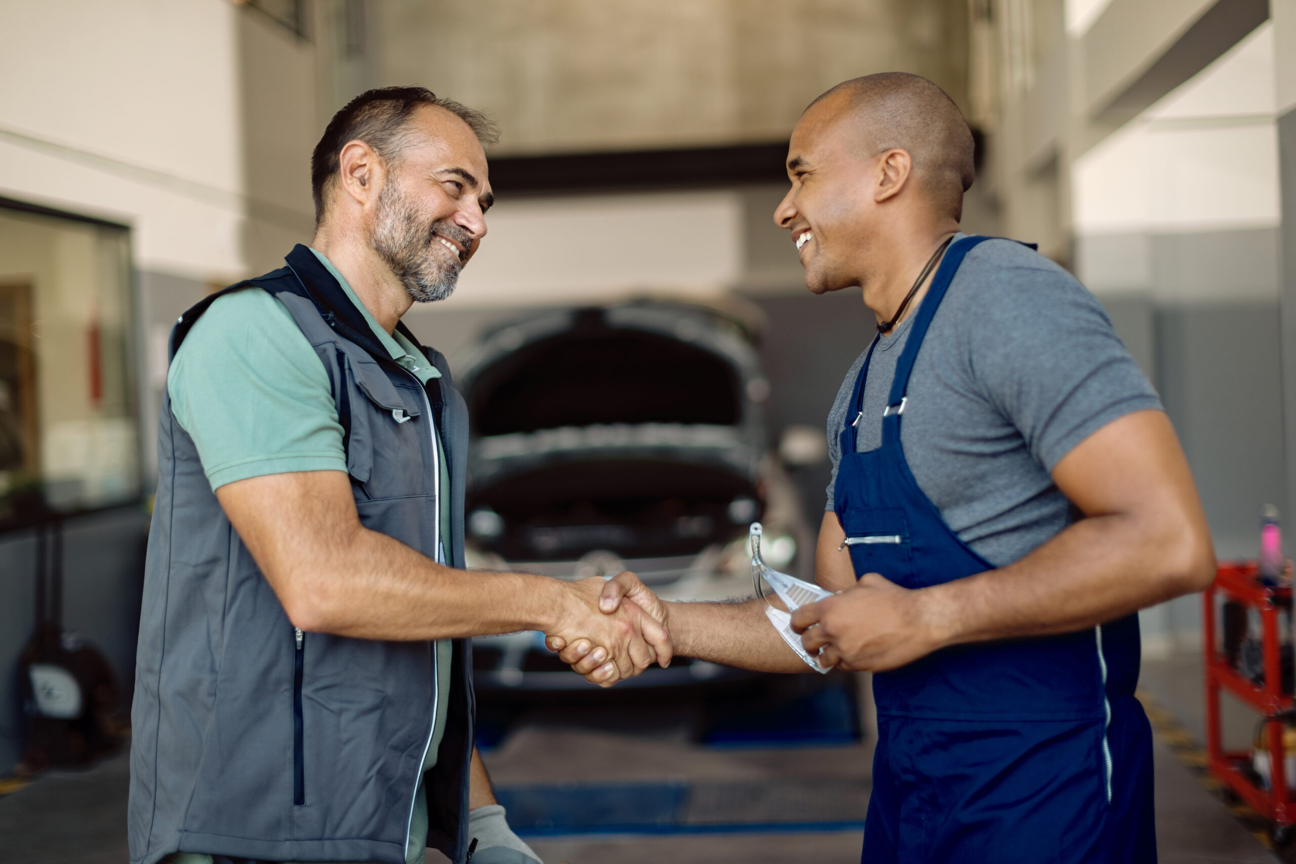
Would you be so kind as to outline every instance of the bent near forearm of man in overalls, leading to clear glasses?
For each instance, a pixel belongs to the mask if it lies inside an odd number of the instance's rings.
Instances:
[[[953,645],[1093,627],[1200,591],[1210,575],[1209,535],[1121,514],[1082,519],[1007,567],[919,593],[934,640]]]

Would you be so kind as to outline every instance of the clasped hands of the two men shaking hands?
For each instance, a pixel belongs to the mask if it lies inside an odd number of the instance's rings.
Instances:
[[[670,666],[675,649],[666,604],[629,570],[612,579],[568,583],[568,609],[544,644],[587,681],[612,687],[653,663]]]

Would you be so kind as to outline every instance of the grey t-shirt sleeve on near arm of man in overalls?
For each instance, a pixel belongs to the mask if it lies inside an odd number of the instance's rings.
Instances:
[[[1161,408],[1102,304],[1069,273],[1041,260],[994,281],[980,320],[959,328],[967,372],[1046,470],[1107,424]]]

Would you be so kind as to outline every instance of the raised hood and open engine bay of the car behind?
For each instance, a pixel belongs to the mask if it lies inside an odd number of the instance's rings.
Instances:
[[[689,554],[754,518],[769,392],[704,307],[561,310],[487,333],[457,382],[468,529],[511,561]]]

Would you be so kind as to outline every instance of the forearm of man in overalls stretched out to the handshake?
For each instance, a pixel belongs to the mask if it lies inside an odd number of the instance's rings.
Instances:
[[[763,600],[669,602],[675,653],[758,672],[805,672],[765,615]]]

